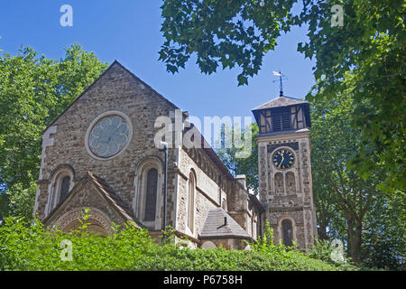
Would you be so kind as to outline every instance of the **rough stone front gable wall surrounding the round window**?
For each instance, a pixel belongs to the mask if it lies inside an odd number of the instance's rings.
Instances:
[[[150,156],[155,156],[161,162],[164,159],[164,153],[154,144],[153,136],[158,130],[154,128],[155,119],[170,116],[174,109],[170,102],[115,62],[48,128],[54,128],[54,133],[51,134],[53,144],[44,148],[45,157],[42,160],[42,178],[39,181],[36,200],[36,212],[40,218],[45,217],[52,173],[60,165],[69,165],[74,170],[74,182],[78,182],[86,172],[93,172],[103,178],[121,199],[132,207],[137,165]],[[122,154],[110,160],[97,160],[88,154],[85,135],[95,118],[111,110],[120,111],[131,119],[132,139]],[[45,135],[47,132],[44,137]],[[177,157],[175,153],[175,149],[169,151],[168,162],[168,223],[171,225],[176,183],[175,174],[172,172],[172,163]],[[161,191],[163,193],[163,190]]]

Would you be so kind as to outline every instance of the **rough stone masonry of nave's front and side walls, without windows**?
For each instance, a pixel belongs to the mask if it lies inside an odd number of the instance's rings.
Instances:
[[[75,216],[78,216],[78,212],[88,207],[94,210],[92,228],[100,234],[103,230],[108,232],[109,223],[123,224],[126,219],[134,219],[139,227],[147,226],[142,218],[134,217],[139,215],[135,211],[138,210],[135,208],[135,193],[143,193],[138,191],[139,186],[136,186],[137,182],[143,182],[137,168],[141,163],[152,159],[157,160],[163,167],[164,153],[154,144],[154,136],[161,128],[155,128],[154,124],[156,118],[161,116],[171,117],[173,120],[176,109],[179,108],[115,61],[44,131],[41,177],[34,214],[38,214],[42,220],[45,219],[48,225],[62,222],[64,228],[68,229],[76,226]],[[90,124],[100,115],[110,111],[119,111],[128,117],[133,134],[122,153],[108,160],[97,159],[88,153],[85,137]],[[183,117],[186,115],[183,114]],[[74,176],[71,186],[75,192],[47,214],[45,209],[50,200],[49,196],[57,190],[52,180],[61,167],[68,168]],[[100,182],[106,183],[116,200],[128,208],[128,218],[117,213],[112,202],[100,198],[92,185],[87,183],[78,190],[77,185],[89,172],[97,176]],[[193,232],[186,228],[190,172],[196,176]],[[162,177],[163,172],[159,173]],[[161,220],[158,228],[161,229],[164,184],[160,183],[158,191],[161,191],[161,194],[157,196],[157,203],[161,205],[156,210],[160,216],[157,222]],[[218,209],[222,204],[243,230],[259,231],[259,228],[247,228],[246,224],[253,222],[254,212],[258,215],[261,208],[251,203],[244,186],[237,182],[230,172],[225,171],[224,164],[211,149],[187,149],[182,146],[170,148],[167,183],[167,225],[175,228],[180,236],[189,238],[191,247],[201,245],[198,235],[205,224],[208,211]],[[248,210],[249,207],[254,209]],[[151,230],[152,237],[157,240],[160,234],[156,228],[155,231]],[[218,240],[213,242],[217,246],[221,243]],[[233,238],[225,238],[222,244],[230,248],[242,246]]]

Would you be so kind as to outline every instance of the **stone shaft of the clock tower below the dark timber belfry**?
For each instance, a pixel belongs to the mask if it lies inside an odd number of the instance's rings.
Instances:
[[[275,242],[281,240],[281,220],[291,219],[293,238],[301,249],[314,243],[317,235],[313,205],[313,192],[310,167],[309,131],[283,135],[266,135],[258,138],[259,188],[260,199],[267,206],[264,221],[269,221],[274,231]],[[272,163],[272,154],[281,148],[294,152],[295,163],[291,169],[278,171]],[[284,190],[275,186],[275,173],[281,172],[283,180],[288,172],[294,175],[295,188]],[[264,223],[263,223],[264,226]]]

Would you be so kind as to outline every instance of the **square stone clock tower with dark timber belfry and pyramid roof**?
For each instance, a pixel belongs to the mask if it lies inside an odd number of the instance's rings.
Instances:
[[[308,250],[317,236],[310,165],[309,102],[279,98],[253,109],[259,126],[258,177],[266,208],[262,224],[273,228],[275,243]],[[263,230],[263,228],[262,228]]]

